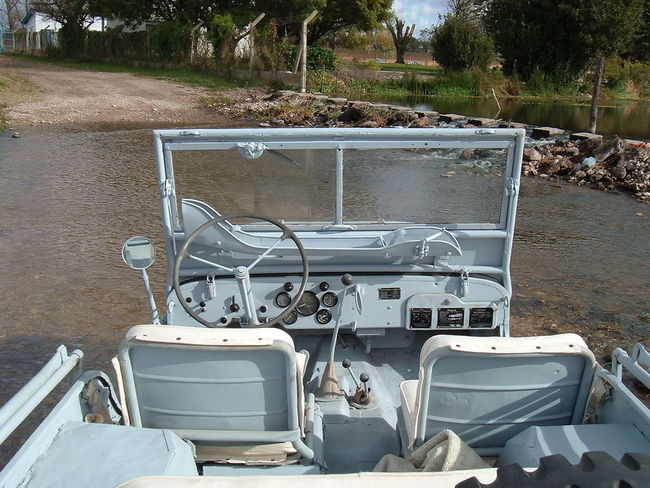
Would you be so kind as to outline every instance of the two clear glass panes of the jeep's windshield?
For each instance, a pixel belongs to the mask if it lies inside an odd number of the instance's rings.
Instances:
[[[336,215],[336,149],[175,151],[177,202],[293,223]],[[490,223],[501,218],[506,149],[344,149],[343,223]]]

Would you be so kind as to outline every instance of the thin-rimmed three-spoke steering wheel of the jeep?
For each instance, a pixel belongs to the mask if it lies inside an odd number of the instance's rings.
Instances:
[[[199,256],[195,256],[188,251],[189,247],[196,240],[196,238],[199,235],[201,235],[203,231],[205,231],[208,227],[212,227],[213,225],[219,224],[226,220],[233,220],[238,218],[248,218],[248,219],[262,220],[264,222],[268,222],[281,229],[282,235],[272,246],[270,246],[262,254],[258,255],[257,258],[248,266],[237,266],[235,268],[229,268],[219,263],[215,263],[213,261],[203,259]],[[298,292],[295,294],[295,296],[293,297],[289,305],[284,309],[284,311],[280,315],[274,317],[273,319],[267,320],[264,323],[260,323],[259,318],[257,317],[255,301],[253,299],[253,292],[251,289],[250,271],[262,259],[268,256],[271,253],[271,251],[273,251],[282,241],[286,239],[291,239],[295,243],[296,247],[298,248],[298,252],[300,253],[300,259],[302,262],[302,281],[300,282],[300,287],[298,288]],[[183,247],[181,247],[181,249],[178,251],[176,255],[176,262],[174,263],[174,275],[173,275],[174,291],[176,292],[176,296],[178,297],[178,301],[180,302],[181,306],[190,315],[190,317],[192,317],[200,324],[205,325],[206,327],[217,327],[217,324],[207,321],[203,317],[199,316],[199,314],[196,313],[194,310],[192,310],[189,304],[185,301],[185,297],[183,297],[183,294],[181,292],[180,270],[181,270],[181,263],[185,258],[189,258],[199,263],[203,263],[213,268],[216,268],[220,271],[226,271],[233,274],[234,278],[237,280],[237,284],[239,285],[239,292],[241,295],[242,303],[244,305],[244,312],[246,313],[246,317],[248,318],[248,325],[253,327],[259,327],[259,326],[271,327],[273,325],[278,324],[282,319],[287,317],[293,311],[293,309],[296,308],[298,302],[302,298],[302,294],[305,291],[305,288],[307,286],[307,278],[309,277],[309,266],[307,264],[307,255],[305,254],[305,248],[303,247],[302,242],[300,242],[300,239],[298,239],[298,236],[296,236],[296,234],[289,227],[284,225],[282,222],[272,219],[270,217],[264,217],[261,215],[252,215],[252,214],[222,215],[212,220],[209,220],[208,222],[198,227],[185,240],[185,244],[183,244]]]

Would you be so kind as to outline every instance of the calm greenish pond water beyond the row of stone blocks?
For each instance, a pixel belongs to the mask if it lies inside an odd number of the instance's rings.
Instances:
[[[385,102],[385,99],[381,101]],[[474,117],[500,118],[538,126],[559,127],[585,132],[589,128],[589,105],[559,102],[521,102],[500,100],[501,112],[493,98],[410,97],[391,99],[391,103],[457,113]],[[498,114],[498,116],[497,116]],[[650,102],[621,102],[617,106],[599,108],[598,133],[650,140]]]

